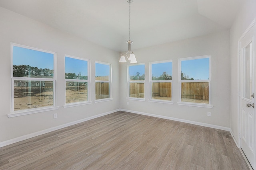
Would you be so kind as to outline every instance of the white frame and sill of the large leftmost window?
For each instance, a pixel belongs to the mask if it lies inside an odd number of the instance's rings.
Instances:
[[[53,55],[53,66],[54,66],[54,75],[53,78],[31,78],[31,77],[14,77],[13,76],[13,47],[21,47],[25,49],[30,49],[34,51],[40,51],[44,53],[50,53]],[[56,106],[57,104],[57,89],[56,89],[56,82],[57,82],[57,65],[56,65],[56,52],[47,51],[44,49],[39,49],[35,47],[30,47],[26,45],[21,45],[17,43],[10,43],[10,51],[11,51],[11,107],[10,107],[10,113],[7,114],[8,117],[16,117],[16,116],[22,116],[22,115],[28,115],[33,113],[39,113],[44,111],[50,111],[50,110],[56,110],[59,107]],[[20,81],[50,81],[53,83],[53,105],[52,106],[44,106],[44,107],[37,107],[37,108],[31,108],[31,109],[22,109],[14,111],[14,80],[20,80]],[[24,86],[26,86],[26,83],[23,83]]]

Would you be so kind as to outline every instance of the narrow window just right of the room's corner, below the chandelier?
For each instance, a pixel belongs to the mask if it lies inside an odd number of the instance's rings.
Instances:
[[[128,97],[144,100],[145,64],[128,65]]]

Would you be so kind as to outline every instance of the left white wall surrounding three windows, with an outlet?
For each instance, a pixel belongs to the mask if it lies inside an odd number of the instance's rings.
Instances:
[[[12,118],[7,117],[7,114],[10,113],[11,106],[11,42],[57,52],[58,110]],[[0,83],[0,142],[119,109],[118,52],[100,47],[99,45],[84,41],[79,37],[74,37],[40,22],[0,8],[0,53],[2,80],[2,83]],[[90,89],[92,104],[63,108],[65,101],[64,55],[90,59],[92,70],[92,88]],[[112,64],[113,101],[94,103],[95,61]],[[58,113],[57,119],[53,119],[53,113]]]

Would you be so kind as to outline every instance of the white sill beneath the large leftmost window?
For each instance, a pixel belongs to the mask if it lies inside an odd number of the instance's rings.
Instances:
[[[11,113],[7,114],[7,116],[8,117],[17,117],[17,116],[29,115],[29,114],[33,114],[33,113],[40,113],[40,112],[44,112],[44,111],[51,111],[51,110],[57,110],[57,109],[59,109],[58,106],[44,107],[44,108],[40,108],[40,109],[26,109],[26,110],[22,110],[22,111],[11,112]]]

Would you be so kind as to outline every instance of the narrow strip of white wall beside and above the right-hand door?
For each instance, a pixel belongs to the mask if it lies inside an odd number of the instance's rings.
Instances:
[[[238,39],[250,23],[256,18],[256,0],[246,0],[230,29],[230,128],[238,143],[238,91],[239,91],[239,67],[238,67]]]

